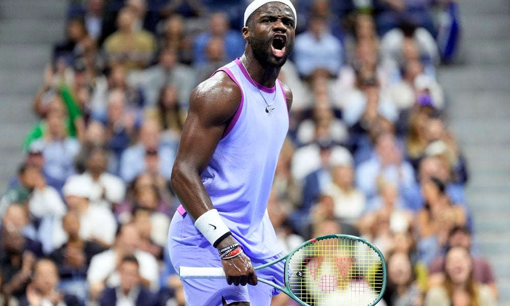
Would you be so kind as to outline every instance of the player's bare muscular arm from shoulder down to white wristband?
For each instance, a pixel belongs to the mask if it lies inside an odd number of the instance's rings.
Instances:
[[[241,91],[222,72],[202,82],[191,93],[188,118],[170,183],[194,220],[214,208],[200,173],[209,164],[228,121],[240,103]]]

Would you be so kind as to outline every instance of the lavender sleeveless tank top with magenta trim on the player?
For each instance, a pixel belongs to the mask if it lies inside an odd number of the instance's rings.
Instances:
[[[219,71],[239,86],[242,98],[201,179],[245,252],[254,258],[270,258],[282,252],[266,208],[278,155],[289,130],[285,91],[279,81],[273,88],[253,84],[239,59],[215,73]],[[266,103],[256,86],[269,104],[274,98],[271,115],[266,113]]]

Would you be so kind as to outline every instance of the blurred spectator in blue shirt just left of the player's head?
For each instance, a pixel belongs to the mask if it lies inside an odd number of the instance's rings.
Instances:
[[[228,29],[228,17],[224,13],[213,13],[209,19],[208,32],[198,35],[194,45],[194,65],[205,64],[208,59],[208,45],[212,38],[222,40],[226,61],[232,61],[240,57],[244,52],[246,42],[238,32]],[[216,43],[220,43],[217,40]]]

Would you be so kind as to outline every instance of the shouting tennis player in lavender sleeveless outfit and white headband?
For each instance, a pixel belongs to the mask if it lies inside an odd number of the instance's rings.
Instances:
[[[277,77],[294,46],[296,10],[289,0],[255,0],[244,25],[243,56],[191,93],[172,171],[183,203],[169,230],[172,264],[226,275],[183,281],[190,306],[269,306],[278,294],[257,282],[253,266],[283,251],[266,207],[289,127],[292,93]],[[258,276],[283,285],[284,263]]]

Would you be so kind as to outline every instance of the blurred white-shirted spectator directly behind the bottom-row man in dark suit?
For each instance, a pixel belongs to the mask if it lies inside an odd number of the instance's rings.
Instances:
[[[115,245],[94,256],[87,272],[90,297],[97,299],[106,287],[120,285],[119,264],[124,256],[134,256],[140,264],[141,283],[151,291],[158,289],[158,262],[151,254],[141,251],[138,246],[140,234],[133,224],[123,225],[117,233]]]

